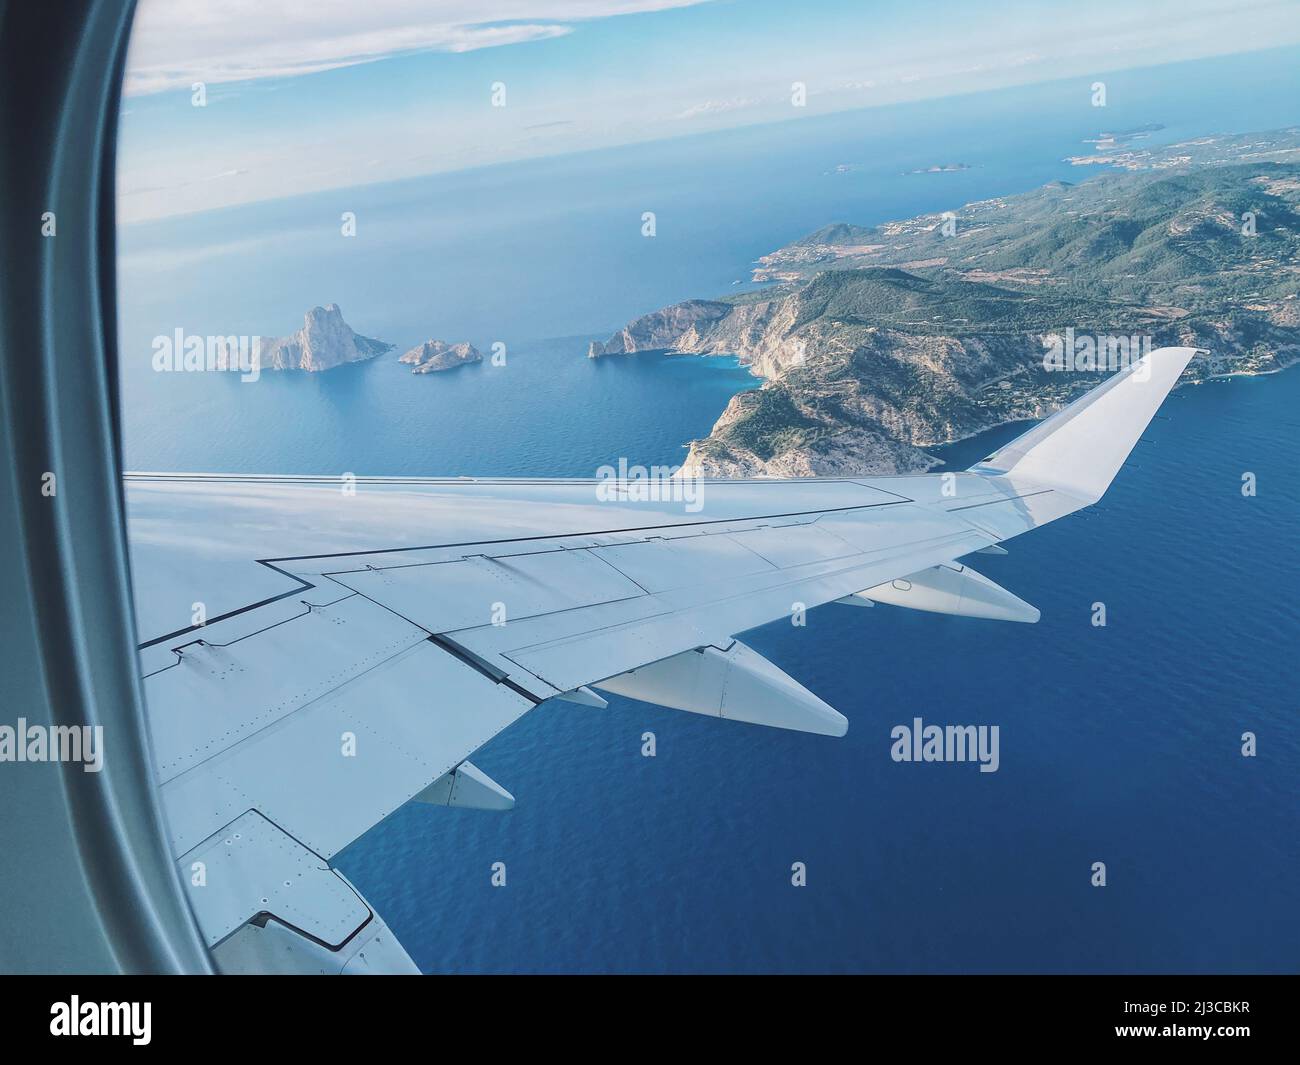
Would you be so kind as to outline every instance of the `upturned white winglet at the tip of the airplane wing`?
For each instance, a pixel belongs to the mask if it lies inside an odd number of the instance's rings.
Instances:
[[[1095,503],[1110,486],[1196,347],[1158,347],[971,467]]]

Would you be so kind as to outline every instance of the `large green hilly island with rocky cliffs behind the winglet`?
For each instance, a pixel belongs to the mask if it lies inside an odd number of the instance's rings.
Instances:
[[[758,260],[764,287],[642,315],[590,358],[740,358],[686,468],[924,471],[928,449],[1039,419],[1117,367],[1054,372],[1069,337],[1206,348],[1188,381],[1300,360],[1300,129],[1132,152],[1127,172],[879,226],[837,222]]]

